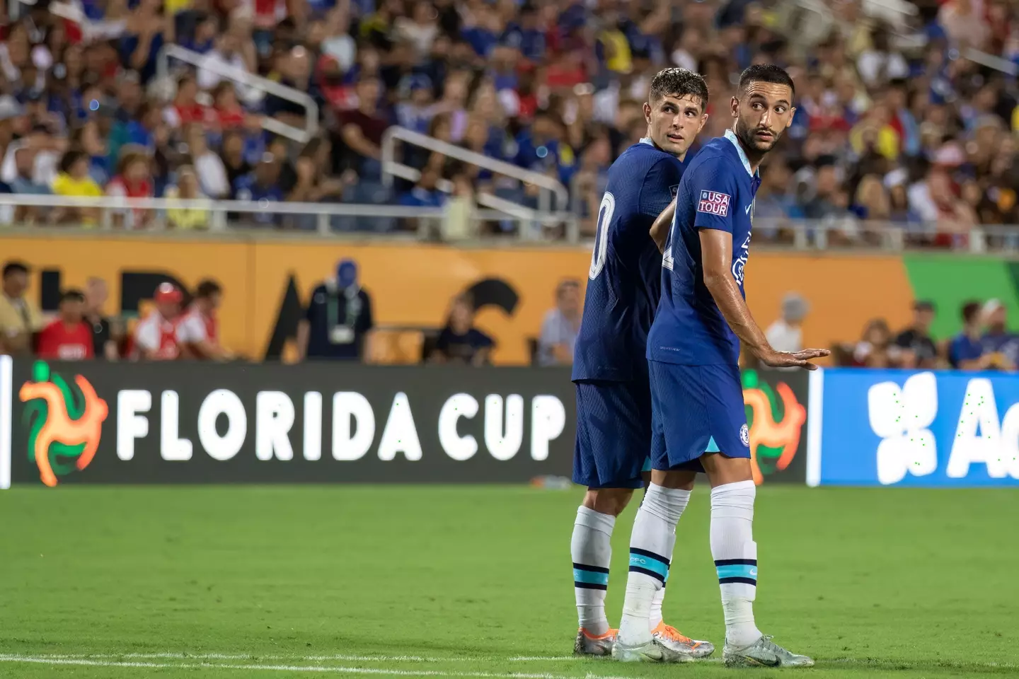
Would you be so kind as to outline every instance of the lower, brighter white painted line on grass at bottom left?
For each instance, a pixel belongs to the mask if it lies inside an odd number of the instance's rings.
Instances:
[[[87,658],[53,658],[45,656],[0,655],[0,663],[32,665],[65,665],[75,667],[106,667],[136,669],[180,669],[180,670],[244,670],[247,672],[314,672],[318,674],[367,674],[386,677],[458,677],[461,679],[580,679],[564,674],[531,672],[446,672],[442,670],[389,670],[365,667],[328,667],[321,665],[262,665],[262,664],[219,664],[219,663],[147,663],[141,661],[102,661]],[[585,679],[631,679],[587,673]]]

